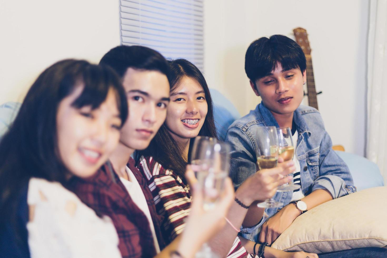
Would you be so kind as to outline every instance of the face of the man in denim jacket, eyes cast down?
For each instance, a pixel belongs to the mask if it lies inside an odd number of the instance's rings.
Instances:
[[[300,68],[283,70],[280,63],[271,73],[250,85],[257,96],[262,98],[265,106],[274,114],[292,114],[303,99],[305,71]]]

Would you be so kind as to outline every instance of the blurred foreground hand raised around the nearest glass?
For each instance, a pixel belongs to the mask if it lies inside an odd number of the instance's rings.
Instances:
[[[185,176],[192,191],[193,201],[178,251],[184,254],[185,257],[191,257],[199,250],[203,243],[207,242],[224,227],[226,223],[224,217],[226,217],[231,203],[234,201],[234,188],[231,179],[226,178],[224,190],[219,200],[211,210],[204,210],[203,192],[199,188],[195,174],[189,165],[187,166]]]

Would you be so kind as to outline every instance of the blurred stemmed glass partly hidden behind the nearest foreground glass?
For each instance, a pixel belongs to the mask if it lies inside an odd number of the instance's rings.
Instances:
[[[197,173],[199,171],[208,171],[209,166],[209,154],[207,150],[211,150],[213,146],[216,144],[217,140],[214,137],[208,136],[197,136],[195,137],[194,144],[192,145],[191,150],[191,159],[190,164],[191,168],[195,173],[195,177],[197,178]],[[204,152],[204,153],[202,153]]]

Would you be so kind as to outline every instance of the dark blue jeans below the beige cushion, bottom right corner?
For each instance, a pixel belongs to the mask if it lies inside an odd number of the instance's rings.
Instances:
[[[379,247],[364,247],[344,251],[325,253],[319,258],[386,258],[387,249]]]

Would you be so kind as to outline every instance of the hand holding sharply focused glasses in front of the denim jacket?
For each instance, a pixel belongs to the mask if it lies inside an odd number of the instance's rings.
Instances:
[[[236,197],[246,205],[269,199],[276,194],[277,186],[292,180],[291,176],[285,176],[293,173],[295,169],[293,161],[282,162],[281,166],[271,169],[261,169],[239,186]]]

